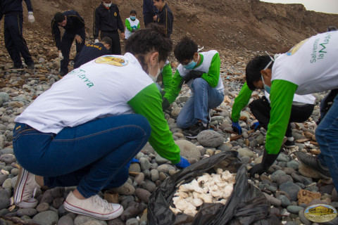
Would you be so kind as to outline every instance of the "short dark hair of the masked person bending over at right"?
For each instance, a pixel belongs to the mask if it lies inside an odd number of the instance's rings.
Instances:
[[[261,70],[263,70],[265,66],[270,63],[270,61],[270,56],[256,56],[255,58],[251,59],[250,62],[246,65],[246,84],[248,84],[248,87],[251,91],[256,89],[256,87],[253,86],[253,82],[258,82],[262,79]],[[271,63],[268,68],[273,68],[273,63]]]

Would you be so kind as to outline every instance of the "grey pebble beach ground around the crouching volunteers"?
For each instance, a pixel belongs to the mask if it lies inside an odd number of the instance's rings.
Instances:
[[[3,40],[0,42],[0,56],[8,57]],[[63,200],[75,187],[39,190],[35,195],[39,202],[37,207],[34,209],[15,207],[13,190],[20,168],[13,154],[15,117],[20,115],[39,94],[59,80],[60,62],[55,57],[44,56],[44,49],[39,49],[38,46],[32,46],[31,53],[35,60],[35,71],[8,71],[12,66],[10,60],[7,58],[0,61],[0,225],[146,225],[149,196],[163,180],[178,171],[168,160],[161,158],[149,143],[137,154],[139,163],[130,165],[130,178],[127,183],[111,190],[118,193],[117,200],[125,210],[117,219],[100,221],[65,211]],[[225,85],[225,100],[218,108],[211,110],[211,129],[201,132],[197,139],[190,140],[184,137],[182,129],[177,128],[175,119],[189,98],[187,86],[183,86],[180,96],[170,105],[170,109],[165,111],[165,119],[173,132],[175,142],[180,146],[181,155],[190,162],[234,150],[249,169],[261,162],[266,131],[263,128],[257,131],[250,129],[256,120],[249,108],[244,108],[240,119],[243,134],[237,136],[233,134],[230,115],[234,98],[244,82],[246,62],[257,53],[245,53],[243,58],[227,54],[221,54],[221,77]],[[260,96],[263,96],[263,91],[254,91],[251,101]],[[323,203],[338,208],[337,191],[332,179],[323,179],[313,169],[302,165],[294,155],[294,152],[299,150],[313,155],[320,153],[314,134],[320,100],[325,93],[314,96],[316,101],[313,115],[304,123],[292,123],[296,147],[283,148],[268,172],[250,179],[270,202],[273,224],[315,224],[304,217],[303,211],[306,207]],[[303,191],[299,192],[300,190]],[[104,198],[104,193],[99,194]],[[338,224],[338,220],[335,219],[330,224]]]

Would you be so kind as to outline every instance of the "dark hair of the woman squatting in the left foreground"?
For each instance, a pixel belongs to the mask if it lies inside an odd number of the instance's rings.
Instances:
[[[125,43],[125,52],[138,56],[145,71],[148,70],[144,61],[147,53],[157,51],[158,60],[165,61],[172,49],[173,41],[166,37],[164,27],[155,23],[149,24],[145,29],[137,30]]]

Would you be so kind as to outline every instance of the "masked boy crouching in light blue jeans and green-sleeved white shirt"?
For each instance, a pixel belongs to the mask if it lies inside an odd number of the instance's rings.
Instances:
[[[163,110],[175,101],[182,84],[187,84],[192,95],[177,117],[177,127],[189,128],[183,134],[194,139],[200,131],[208,129],[208,110],[224,100],[220,55],[215,50],[199,53],[197,44],[188,37],[175,46],[174,54],[180,65],[173,76],[172,89],[163,97]]]

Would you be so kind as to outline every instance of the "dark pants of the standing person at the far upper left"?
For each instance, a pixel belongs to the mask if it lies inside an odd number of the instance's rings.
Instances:
[[[23,65],[21,56],[23,56],[26,65],[32,65],[34,62],[23,38],[23,15],[5,15],[4,27],[5,46],[14,66],[20,67]]]

